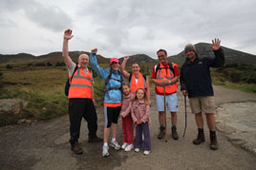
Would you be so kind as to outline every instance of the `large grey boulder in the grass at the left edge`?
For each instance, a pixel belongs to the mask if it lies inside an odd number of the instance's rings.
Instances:
[[[18,117],[22,115],[28,102],[21,99],[2,99],[0,100],[0,115],[10,115]]]

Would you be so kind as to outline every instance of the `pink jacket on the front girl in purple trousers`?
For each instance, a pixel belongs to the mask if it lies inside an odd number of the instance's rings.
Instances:
[[[132,102],[131,113],[134,123],[142,121],[143,123],[150,122],[149,117],[150,104],[145,104],[135,100]]]

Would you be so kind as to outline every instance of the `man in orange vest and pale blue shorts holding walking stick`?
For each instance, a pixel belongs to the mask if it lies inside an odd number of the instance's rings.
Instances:
[[[177,64],[168,63],[167,52],[164,49],[160,49],[157,52],[160,64],[155,65],[152,70],[152,81],[156,85],[156,99],[157,108],[159,111],[159,122],[160,122],[160,134],[158,139],[164,137],[165,125],[164,124],[164,95],[165,104],[168,110],[171,112],[172,121],[172,138],[174,140],[179,139],[177,133],[177,112],[178,97],[177,97],[177,82],[179,81],[180,71]],[[166,120],[165,120],[166,121]]]

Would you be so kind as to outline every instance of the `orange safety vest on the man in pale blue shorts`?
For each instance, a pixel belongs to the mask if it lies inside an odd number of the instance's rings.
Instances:
[[[173,67],[177,67],[177,64],[173,64]],[[174,74],[171,71],[171,69],[169,68],[169,65],[163,66],[162,64],[160,64],[160,69],[157,72],[157,77],[156,79],[158,79],[160,82],[163,80],[163,78],[168,79],[168,80],[172,80],[174,78]],[[160,93],[163,93],[163,85],[156,85],[156,88],[158,89],[158,91]],[[175,93],[177,91],[177,84],[174,85],[165,85],[165,93],[168,94],[172,94]]]

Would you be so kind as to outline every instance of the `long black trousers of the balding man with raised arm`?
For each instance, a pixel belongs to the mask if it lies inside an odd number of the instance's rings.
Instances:
[[[82,117],[87,122],[89,138],[96,137],[96,107],[91,99],[69,99],[69,116],[71,144],[79,139]]]

